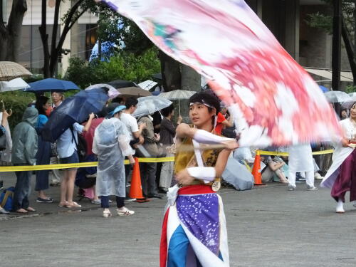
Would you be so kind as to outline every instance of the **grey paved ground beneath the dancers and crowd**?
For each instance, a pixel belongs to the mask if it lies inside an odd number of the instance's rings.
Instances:
[[[14,174],[1,177],[14,183]],[[356,209],[346,204],[347,213],[335,214],[328,190],[304,187],[221,190],[231,266],[356,266]],[[56,199],[58,191],[49,189]],[[104,219],[88,201],[68,211],[31,197],[38,214],[0,216],[0,266],[158,266],[164,200],[129,203],[135,216]]]

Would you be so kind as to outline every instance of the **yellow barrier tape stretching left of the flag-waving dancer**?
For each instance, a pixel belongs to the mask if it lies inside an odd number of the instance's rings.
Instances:
[[[174,157],[139,157],[139,162],[174,162]],[[125,164],[129,164],[125,159]],[[80,162],[68,164],[46,164],[46,165],[26,165],[26,166],[1,166],[0,172],[23,172],[23,171],[42,171],[45,169],[70,169],[80,167],[97,167],[98,162]]]

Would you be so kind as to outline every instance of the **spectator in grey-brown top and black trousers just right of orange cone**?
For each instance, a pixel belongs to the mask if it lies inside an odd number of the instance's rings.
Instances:
[[[153,118],[150,115],[145,115],[140,117],[138,123],[145,124],[147,127],[142,131],[144,138],[143,147],[150,154],[150,157],[157,157],[158,149],[157,142],[159,142],[159,134],[154,132]],[[145,156],[140,150],[137,150],[137,155],[140,157]],[[140,163],[140,174],[142,183],[142,192],[145,198],[155,197],[161,199],[162,196],[157,192],[156,184],[156,162],[141,162]]]

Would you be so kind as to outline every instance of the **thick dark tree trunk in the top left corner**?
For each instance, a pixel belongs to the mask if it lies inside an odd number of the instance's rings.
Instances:
[[[0,6],[0,60],[16,62],[19,58],[22,21],[27,11],[27,3],[26,0],[13,1],[7,26],[3,23],[2,0]]]

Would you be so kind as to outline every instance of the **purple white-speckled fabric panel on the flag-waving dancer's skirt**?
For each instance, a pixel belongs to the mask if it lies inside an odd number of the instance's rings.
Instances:
[[[216,194],[180,195],[177,213],[184,226],[210,251],[219,253],[219,199]]]

